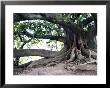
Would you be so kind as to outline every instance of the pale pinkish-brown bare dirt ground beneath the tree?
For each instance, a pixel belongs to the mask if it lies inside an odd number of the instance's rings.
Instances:
[[[50,63],[37,68],[16,69],[14,75],[97,75],[97,64],[73,65],[71,63]]]

